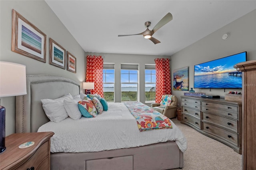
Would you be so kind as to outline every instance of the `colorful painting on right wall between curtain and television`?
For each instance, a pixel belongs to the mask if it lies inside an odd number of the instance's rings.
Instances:
[[[188,91],[188,67],[173,70],[173,90]]]

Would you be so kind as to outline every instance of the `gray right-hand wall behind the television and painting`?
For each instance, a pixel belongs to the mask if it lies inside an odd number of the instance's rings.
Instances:
[[[227,40],[222,40],[222,35],[225,33],[229,33],[230,37]],[[172,79],[173,70],[188,66],[189,89],[193,88],[194,65],[244,51],[247,51],[248,61],[256,60],[256,10],[172,55]],[[242,92],[241,89],[225,89],[225,92],[224,89],[211,89],[210,91],[210,89],[196,88],[194,90],[208,95],[219,95],[221,98],[224,98],[224,94],[229,91]],[[172,94],[182,96],[184,91],[172,90]]]

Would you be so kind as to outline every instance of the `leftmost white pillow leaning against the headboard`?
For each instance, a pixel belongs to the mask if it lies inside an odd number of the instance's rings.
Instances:
[[[68,117],[64,108],[64,100],[73,99],[71,95],[63,96],[57,99],[42,99],[42,106],[46,116],[52,122],[60,122]]]

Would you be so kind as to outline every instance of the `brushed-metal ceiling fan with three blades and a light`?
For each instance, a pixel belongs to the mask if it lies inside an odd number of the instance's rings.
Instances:
[[[170,12],[168,12],[157,24],[156,26],[153,28],[153,30],[149,30],[148,27],[150,26],[151,22],[147,21],[145,22],[145,27],[147,28],[146,31],[139,33],[139,34],[131,34],[131,35],[118,35],[120,36],[133,36],[133,35],[143,35],[144,38],[151,40],[154,44],[160,43],[159,40],[157,40],[156,38],[152,37],[152,35],[162,26],[164,26],[165,24],[167,24],[168,22],[170,22],[172,20],[172,14]]]

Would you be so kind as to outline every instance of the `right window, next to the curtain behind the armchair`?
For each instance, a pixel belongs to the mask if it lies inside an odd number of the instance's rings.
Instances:
[[[145,65],[145,101],[156,100],[156,66]]]

